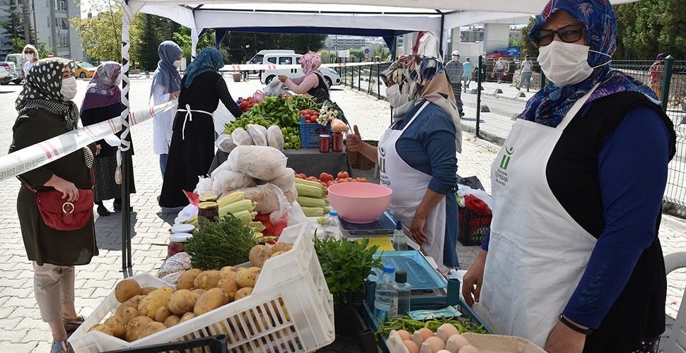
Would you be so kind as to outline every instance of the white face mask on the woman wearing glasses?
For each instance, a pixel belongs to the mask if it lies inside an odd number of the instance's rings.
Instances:
[[[564,87],[566,85],[576,85],[588,76],[591,76],[594,68],[610,64],[607,61],[605,64],[600,64],[595,67],[588,65],[588,52],[594,52],[610,56],[605,53],[595,52],[586,45],[560,42],[558,40],[552,41],[545,47],[540,47],[538,55],[538,63],[541,70],[545,73],[550,82],[557,87]],[[612,58],[612,56],[610,56]]]

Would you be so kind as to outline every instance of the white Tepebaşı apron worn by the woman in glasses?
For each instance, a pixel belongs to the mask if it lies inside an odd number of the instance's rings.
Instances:
[[[492,164],[491,238],[474,309],[496,334],[545,347],[591,258],[596,239],[559,204],[545,167],[562,131],[593,90],[557,128],[517,119]]]

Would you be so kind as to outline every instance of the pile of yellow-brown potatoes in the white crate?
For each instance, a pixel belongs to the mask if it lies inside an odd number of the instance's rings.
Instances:
[[[277,248],[274,250],[274,248]],[[250,251],[250,268],[226,266],[221,270],[186,270],[172,287],[140,287],[135,280],[122,280],[115,287],[115,298],[122,303],[114,315],[103,323],[93,325],[88,332],[98,330],[107,335],[134,342],[158,333],[196,316],[213,311],[220,306],[243,299],[252,294],[264,261],[289,251],[293,244],[277,244],[269,249],[257,245]],[[272,303],[276,305],[275,303]],[[290,320],[283,301],[279,304]],[[257,313],[262,323],[267,318]],[[252,313],[255,319],[255,313]],[[281,321],[281,318],[278,318]],[[247,318],[245,321],[248,321]],[[274,318],[269,317],[274,322]],[[252,328],[250,333],[252,334]],[[224,330],[226,331],[226,330]],[[243,328],[240,328],[243,331]],[[236,335],[236,333],[234,333]],[[237,338],[237,337],[236,337]]]

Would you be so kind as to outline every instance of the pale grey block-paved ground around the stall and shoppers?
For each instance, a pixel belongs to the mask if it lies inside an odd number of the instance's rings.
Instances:
[[[230,76],[227,76],[230,77]],[[76,102],[81,102],[86,81],[79,81],[79,95]],[[148,106],[150,80],[132,81],[132,109],[144,109]],[[252,95],[262,88],[257,80],[241,83],[229,83],[229,90],[234,97]],[[0,154],[5,154],[11,143],[11,126],[16,119],[13,101],[20,86],[0,86]],[[378,140],[390,121],[390,110],[385,101],[377,101],[359,92],[335,88],[332,99],[337,102],[352,124],[360,126],[364,138]],[[473,119],[467,111],[466,118]],[[173,223],[174,214],[163,213],[157,203],[161,190],[161,174],[158,157],[152,152],[151,123],[132,128],[136,148],[134,155],[134,172],[138,193],[132,195],[132,251],[134,274],[150,272],[156,269],[166,254],[165,244],[168,241],[168,229]],[[489,170],[498,148],[475,140],[473,135],[463,136],[463,152],[458,161],[458,172],[462,176],[477,176],[487,191],[490,192]],[[373,180],[371,171],[361,171],[364,177]],[[378,179],[376,179],[378,182]],[[0,188],[0,352],[47,353],[50,351],[52,337],[46,323],[40,320],[33,297],[33,270],[25,256],[21,232],[16,216],[16,194],[19,183],[16,179],[2,181]],[[111,201],[105,203],[111,210]],[[89,265],[79,266],[76,273],[76,309],[88,315],[103,299],[112,292],[123,274],[121,258],[121,213],[112,213],[109,217],[98,217],[95,220],[100,256],[93,258]],[[661,241],[665,254],[675,251],[686,251],[686,223],[665,216],[661,225]],[[460,246],[460,261],[468,268],[475,260],[478,246]],[[668,276],[668,300],[666,306],[669,324],[680,306],[686,285],[686,271],[680,270]],[[672,304],[674,303],[674,304]],[[665,335],[668,335],[669,330]],[[665,340],[666,341],[666,340]]]

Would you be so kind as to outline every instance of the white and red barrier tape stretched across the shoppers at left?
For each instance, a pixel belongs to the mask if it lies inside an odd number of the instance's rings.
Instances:
[[[129,114],[129,124],[136,125],[148,121],[163,112],[176,107],[178,101],[159,104],[139,112]],[[59,160],[69,153],[79,150],[97,140],[122,130],[122,117],[117,116],[98,124],[84,126],[63,133],[9,155],[0,157],[0,181],[16,177],[45,164]]]

